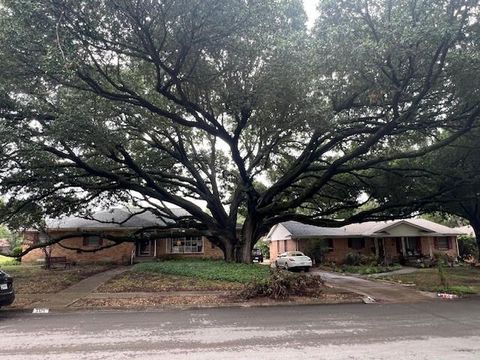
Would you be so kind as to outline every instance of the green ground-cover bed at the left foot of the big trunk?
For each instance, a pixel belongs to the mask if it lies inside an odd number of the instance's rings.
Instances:
[[[247,284],[265,280],[269,268],[258,264],[227,263],[222,260],[171,260],[137,264],[132,269],[138,273],[159,273],[188,276],[204,280],[219,280]]]

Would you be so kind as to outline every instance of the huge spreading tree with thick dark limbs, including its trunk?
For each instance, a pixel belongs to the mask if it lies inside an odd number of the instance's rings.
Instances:
[[[352,212],[369,170],[480,114],[477,1],[322,0],[312,31],[300,0],[2,4],[6,223],[176,206],[248,261],[281,221],[388,217]]]

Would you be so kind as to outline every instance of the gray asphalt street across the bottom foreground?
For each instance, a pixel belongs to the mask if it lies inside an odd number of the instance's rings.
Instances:
[[[26,314],[0,359],[480,359],[480,300]]]

